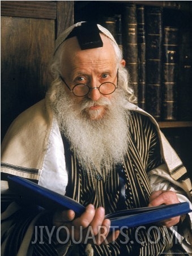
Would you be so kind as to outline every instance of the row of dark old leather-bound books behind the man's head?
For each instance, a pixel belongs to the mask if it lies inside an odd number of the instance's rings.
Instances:
[[[192,121],[191,14],[191,1],[74,1],[74,22],[91,20],[114,34],[138,106],[160,122]]]

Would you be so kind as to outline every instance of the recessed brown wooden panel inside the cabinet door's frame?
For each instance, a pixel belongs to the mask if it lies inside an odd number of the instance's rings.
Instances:
[[[11,121],[45,95],[55,22],[1,17],[1,137]]]

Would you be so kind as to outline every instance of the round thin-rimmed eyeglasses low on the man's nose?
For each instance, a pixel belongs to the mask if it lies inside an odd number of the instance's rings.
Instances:
[[[61,75],[60,75],[60,78],[62,79],[63,83],[65,83],[67,88],[75,96],[78,96],[78,97],[86,96],[89,93],[89,91],[92,89],[98,89],[101,94],[109,95],[109,94],[114,93],[114,91],[118,88],[118,86],[116,86],[112,82],[101,83],[101,85],[99,87],[89,87],[86,83],[78,83],[77,85],[74,85],[74,87],[72,87],[72,90],[71,90]]]

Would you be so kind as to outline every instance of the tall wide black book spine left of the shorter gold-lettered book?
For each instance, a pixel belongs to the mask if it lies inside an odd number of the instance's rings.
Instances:
[[[161,54],[163,8],[146,8],[146,110],[161,118]]]

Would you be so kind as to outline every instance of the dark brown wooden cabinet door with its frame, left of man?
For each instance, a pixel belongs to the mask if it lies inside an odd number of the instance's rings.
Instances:
[[[44,98],[54,41],[74,23],[73,1],[1,1],[1,139],[20,112]]]

